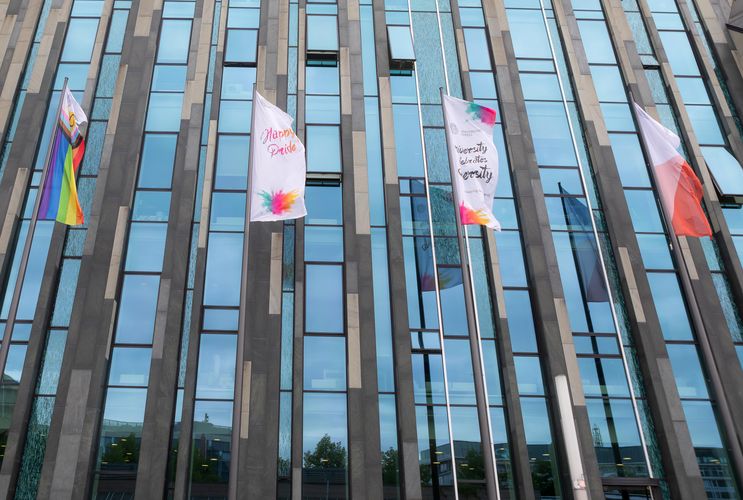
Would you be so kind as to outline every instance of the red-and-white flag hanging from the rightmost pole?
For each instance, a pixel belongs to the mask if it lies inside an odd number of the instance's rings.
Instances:
[[[640,131],[653,163],[655,182],[673,232],[678,236],[712,236],[702,210],[702,184],[676,148],[681,140],[636,103]]]

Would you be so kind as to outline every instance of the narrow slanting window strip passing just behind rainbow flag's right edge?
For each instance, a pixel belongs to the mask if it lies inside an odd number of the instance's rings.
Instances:
[[[95,192],[98,180],[98,168],[121,60],[123,33],[126,29],[130,10],[130,1],[114,2],[104,46],[98,85],[93,100],[93,112],[89,118],[90,123],[86,134],[86,151],[78,178],[78,187],[87,186],[87,191],[90,192],[91,196]],[[84,206],[84,212],[85,219],[88,220],[90,204]],[[62,367],[67,329],[70,325],[72,303],[77,290],[83,244],[88,229],[87,227],[68,227],[66,231],[59,281],[54,292],[54,306],[50,324],[46,331],[46,343],[35,386],[31,421],[23,447],[21,468],[16,486],[17,498],[33,498],[38,489],[52,409],[57,392],[57,380]]]

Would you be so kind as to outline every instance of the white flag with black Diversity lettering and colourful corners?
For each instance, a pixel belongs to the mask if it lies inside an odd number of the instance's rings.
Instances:
[[[443,104],[460,220],[462,224],[500,231],[493,215],[498,184],[498,151],[493,144],[495,111],[448,95],[443,96]]]

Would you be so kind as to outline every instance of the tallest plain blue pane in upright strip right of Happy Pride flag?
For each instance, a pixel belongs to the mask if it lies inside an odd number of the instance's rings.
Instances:
[[[343,333],[343,267],[306,266],[305,331]]]

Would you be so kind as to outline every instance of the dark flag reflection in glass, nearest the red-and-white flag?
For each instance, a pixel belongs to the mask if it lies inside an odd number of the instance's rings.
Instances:
[[[570,193],[562,185],[560,194],[563,195],[561,200],[565,221],[572,229],[570,244],[573,248],[575,267],[578,270],[578,279],[581,282],[584,298],[586,302],[608,302],[609,293],[604,284],[603,270],[599,262],[599,252],[588,207],[579,198],[569,196]]]

